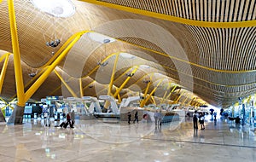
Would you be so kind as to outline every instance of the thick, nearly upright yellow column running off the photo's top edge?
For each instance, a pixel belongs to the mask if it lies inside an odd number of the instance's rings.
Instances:
[[[24,100],[24,84],[23,84],[23,77],[22,77],[22,70],[20,64],[20,46],[19,46],[19,39],[18,39],[18,32],[16,26],[16,19],[15,19],[15,7],[14,1],[8,0],[9,6],[9,24],[10,24],[10,32],[12,38],[12,47],[13,47],[13,54],[14,54],[14,64],[15,64],[15,83],[16,83],[16,91],[17,91],[17,98],[18,102],[17,105],[20,107],[25,106]]]

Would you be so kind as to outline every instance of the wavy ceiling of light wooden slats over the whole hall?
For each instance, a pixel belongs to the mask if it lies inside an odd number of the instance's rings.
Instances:
[[[91,40],[88,34],[84,34],[70,50],[67,59],[56,68],[58,72],[64,72],[63,78],[68,84],[74,84],[73,89],[78,94],[79,77],[83,77],[84,95],[108,93],[108,86],[105,84],[109,83],[113,71],[113,62],[116,58],[113,54],[118,52],[135,55],[136,59],[127,59],[119,55],[113,93],[124,83],[127,78],[125,73],[132,70],[129,68],[137,65],[153,67],[139,68],[135,72],[134,77],[125,85],[125,90],[120,91],[120,95],[124,97],[132,93],[131,90],[144,93],[147,84],[143,81],[148,80],[154,72],[169,77],[161,84],[165,89],[159,89],[155,96],[163,96],[168,84],[175,83],[193,91],[195,95],[213,106],[226,107],[234,104],[238,97],[255,93],[256,24],[231,28],[221,26],[221,22],[255,20],[255,0],[207,0],[201,3],[197,3],[196,0],[95,1],[106,2],[108,3],[106,6],[115,4],[128,7],[131,12],[132,9],[140,9],[185,20],[218,22],[219,27],[192,26],[99,6],[92,4],[94,3],[92,0],[88,2],[90,3],[73,1],[76,13],[68,18],[56,18],[35,9],[29,0],[15,1],[25,84],[33,79],[28,73],[40,72],[42,70],[40,67],[47,66],[47,62],[54,57],[52,52],[60,49],[68,38],[77,32],[90,30],[117,40],[103,44]],[[55,49],[45,44],[53,34],[61,38],[61,44]],[[12,52],[8,3],[4,0],[0,3],[0,49],[3,50],[0,56],[6,51]],[[97,67],[98,61],[106,58],[108,65],[92,72]],[[3,67],[3,62],[0,66]],[[161,78],[155,74],[151,77],[154,84],[150,86],[148,94],[154,90]],[[183,100],[186,97],[190,97],[190,100],[195,97],[188,96],[188,92],[184,93],[187,95],[183,95]],[[61,86],[60,79],[52,72],[32,98],[38,100],[46,95],[63,94],[70,95],[67,89]],[[9,60],[1,96],[6,100],[15,96],[12,59]]]

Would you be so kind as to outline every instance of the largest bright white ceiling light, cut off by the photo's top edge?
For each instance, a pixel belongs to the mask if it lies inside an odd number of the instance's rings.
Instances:
[[[75,6],[70,0],[32,0],[32,4],[55,17],[69,17],[75,13]]]

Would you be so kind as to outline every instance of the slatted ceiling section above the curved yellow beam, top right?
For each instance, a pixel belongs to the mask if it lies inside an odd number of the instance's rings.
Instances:
[[[221,1],[221,0],[148,0],[148,1],[133,1],[133,0],[100,0],[101,2],[119,4],[125,7],[134,9],[143,9],[159,14],[167,14],[176,17],[182,17],[192,20],[206,21],[241,21],[255,20],[255,0],[247,1]],[[238,3],[239,2],[239,3]],[[169,5],[166,8],[167,4]],[[245,7],[244,7],[245,6]],[[170,12],[171,10],[171,12]],[[217,12],[215,12],[217,11]],[[192,14],[193,13],[193,14]]]

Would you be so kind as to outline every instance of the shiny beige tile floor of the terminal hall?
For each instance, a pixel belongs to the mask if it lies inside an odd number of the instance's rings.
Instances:
[[[0,161],[256,161],[256,136],[248,125],[208,120],[194,130],[189,119],[162,124],[77,120],[74,129],[44,126],[24,119],[22,125],[0,124]]]

